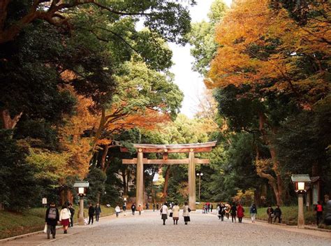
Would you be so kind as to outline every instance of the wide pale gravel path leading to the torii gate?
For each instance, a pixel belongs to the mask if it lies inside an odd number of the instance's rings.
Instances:
[[[159,212],[142,215],[120,215],[100,219],[93,226],[74,226],[57,238],[47,240],[45,234],[13,240],[3,245],[331,245],[331,233],[297,229],[295,226],[270,225],[263,222],[242,224],[230,219],[221,222],[216,215],[191,212],[185,225],[180,217],[173,225],[168,219],[162,225]]]

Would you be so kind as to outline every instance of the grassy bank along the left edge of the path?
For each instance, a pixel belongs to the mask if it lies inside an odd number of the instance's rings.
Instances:
[[[78,222],[78,206],[74,206],[73,222]],[[60,210],[61,208],[59,208]],[[0,211],[0,239],[41,231],[45,226],[46,208],[31,208],[24,212]],[[101,206],[101,216],[112,215],[115,208]],[[88,208],[84,208],[84,217],[88,217]]]

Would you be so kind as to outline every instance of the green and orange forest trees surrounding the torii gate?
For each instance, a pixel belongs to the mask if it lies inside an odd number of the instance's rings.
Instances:
[[[1,2],[2,208],[65,201],[83,179],[91,202],[132,197],[135,167],[121,164],[132,143],[217,140],[198,156],[211,161],[197,166],[202,201],[291,204],[293,173],[320,176],[330,194],[328,1],[217,0],[198,23],[185,4]],[[193,120],[179,114],[167,42],[193,45],[205,77]],[[145,166],[152,201],[186,201],[187,179],[186,166]]]

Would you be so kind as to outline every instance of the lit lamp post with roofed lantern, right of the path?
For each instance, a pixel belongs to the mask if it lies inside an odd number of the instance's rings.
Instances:
[[[308,174],[293,174],[291,180],[295,184],[295,192],[297,192],[297,227],[304,228],[303,196],[307,191],[306,184],[311,180]]]

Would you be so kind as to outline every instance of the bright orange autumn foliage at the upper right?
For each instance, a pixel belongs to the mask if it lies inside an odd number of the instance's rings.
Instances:
[[[327,3],[311,8],[330,13]],[[270,0],[235,1],[216,29],[220,48],[205,84],[211,89],[244,84],[254,88],[271,82],[265,89],[294,93],[304,103],[314,103],[329,89],[328,69],[321,64],[330,58],[330,27],[330,15],[300,26],[284,8],[270,8]],[[298,76],[302,54],[317,64],[315,75]]]

